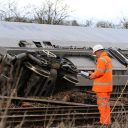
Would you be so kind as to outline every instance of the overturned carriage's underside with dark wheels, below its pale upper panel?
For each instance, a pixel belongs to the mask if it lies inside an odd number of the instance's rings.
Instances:
[[[64,91],[91,91],[92,81],[78,74],[94,70],[91,49],[2,47],[0,51],[3,95],[48,97]],[[128,78],[127,51],[107,51],[113,62],[113,95],[117,97]],[[128,95],[127,88],[123,95]]]

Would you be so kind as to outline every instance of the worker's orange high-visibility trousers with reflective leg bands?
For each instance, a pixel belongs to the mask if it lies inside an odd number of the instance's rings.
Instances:
[[[110,93],[97,92],[97,105],[100,113],[101,124],[111,124],[110,118]]]

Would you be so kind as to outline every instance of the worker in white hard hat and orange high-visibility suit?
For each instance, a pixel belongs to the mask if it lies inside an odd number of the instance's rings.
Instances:
[[[100,124],[110,125],[110,93],[112,92],[112,61],[102,45],[93,47],[96,56],[96,69],[90,72],[89,78],[94,80],[92,91],[96,93],[100,113]]]

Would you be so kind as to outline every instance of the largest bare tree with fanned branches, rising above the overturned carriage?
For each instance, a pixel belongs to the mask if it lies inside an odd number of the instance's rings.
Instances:
[[[63,0],[46,0],[40,8],[34,10],[34,20],[41,24],[61,24],[69,15],[69,8]]]

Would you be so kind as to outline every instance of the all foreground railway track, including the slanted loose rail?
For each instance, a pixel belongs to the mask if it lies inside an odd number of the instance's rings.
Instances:
[[[92,124],[99,120],[99,112],[97,105],[52,101],[44,99],[34,98],[21,98],[21,97],[7,97],[0,96],[1,100],[11,100],[18,102],[31,102],[40,103],[43,107],[21,107],[21,106],[6,106],[0,108],[0,120],[4,122],[6,126],[15,127],[22,125],[23,128],[29,126],[45,126],[51,125],[57,126],[59,123],[72,122],[75,126],[85,126],[86,124]],[[111,105],[111,108],[113,105]],[[128,114],[127,104],[118,104],[112,112],[112,118],[123,114]],[[45,128],[44,127],[44,128]]]

